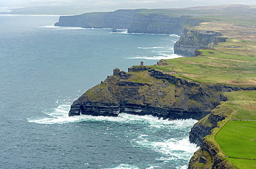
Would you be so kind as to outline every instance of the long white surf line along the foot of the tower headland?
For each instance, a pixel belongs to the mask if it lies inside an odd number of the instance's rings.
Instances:
[[[56,101],[56,103],[63,103],[64,101]],[[161,120],[158,117],[153,117],[152,115],[138,116],[129,115],[126,113],[120,113],[118,117],[103,117],[103,116],[91,116],[91,115],[80,115],[74,117],[68,117],[68,111],[70,110],[70,102],[60,104],[57,108],[49,108],[43,111],[44,117],[30,117],[28,122],[30,123],[73,123],[79,121],[116,121],[120,123],[148,123],[150,127],[154,128],[188,128],[192,123],[196,123],[196,120],[186,119],[186,120]]]

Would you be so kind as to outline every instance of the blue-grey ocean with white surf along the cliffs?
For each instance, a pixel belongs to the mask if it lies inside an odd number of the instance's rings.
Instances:
[[[179,57],[179,36],[60,28],[58,18],[0,15],[0,168],[188,168],[194,119],[68,117],[114,68]]]

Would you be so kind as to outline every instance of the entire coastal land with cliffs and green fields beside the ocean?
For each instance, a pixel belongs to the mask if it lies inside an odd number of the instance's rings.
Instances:
[[[118,68],[71,105],[69,116],[198,119],[192,168],[256,168],[256,6],[117,10],[60,17],[55,26],[178,34],[183,57]]]

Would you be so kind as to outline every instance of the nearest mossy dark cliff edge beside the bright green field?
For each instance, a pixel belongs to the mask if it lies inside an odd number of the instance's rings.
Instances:
[[[201,148],[194,152],[194,155],[190,159],[188,169],[235,168],[232,163],[225,159],[224,155],[221,155],[221,151],[214,145],[213,139],[210,139],[210,137],[204,138],[212,134],[213,128],[219,128],[218,122],[226,119],[232,111],[232,108],[221,104],[217,108],[214,108],[210,115],[204,117],[193,126],[190,131],[190,142],[196,143]]]

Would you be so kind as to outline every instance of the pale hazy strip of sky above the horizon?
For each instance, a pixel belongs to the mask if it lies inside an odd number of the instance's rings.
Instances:
[[[255,0],[1,0],[0,12],[12,8],[31,8],[50,6],[64,10],[83,10],[84,12],[113,11],[138,8],[188,8],[193,6],[214,6],[244,4],[256,5]]]

